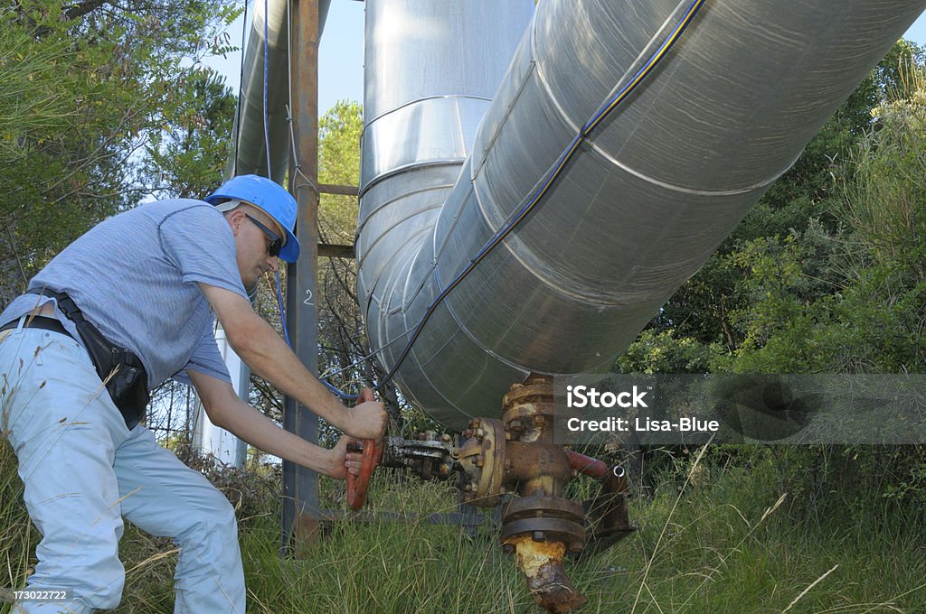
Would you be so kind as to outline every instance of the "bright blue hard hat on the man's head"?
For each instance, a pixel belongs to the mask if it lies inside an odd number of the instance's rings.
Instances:
[[[286,240],[280,250],[280,258],[294,263],[299,257],[299,241],[295,238],[296,203],[292,194],[268,178],[257,175],[241,175],[222,184],[219,190],[206,196],[209,204],[238,200],[251,203],[277,221],[286,232]]]

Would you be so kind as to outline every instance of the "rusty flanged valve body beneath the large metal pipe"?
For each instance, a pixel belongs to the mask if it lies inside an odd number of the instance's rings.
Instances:
[[[581,554],[586,541],[607,547],[632,533],[627,484],[614,467],[554,443],[551,378],[531,375],[511,387],[503,404],[501,420],[474,418],[459,445],[433,432],[389,438],[382,464],[408,467],[425,479],[458,473],[460,497],[471,505],[492,507],[508,498],[502,547],[515,555],[537,603],[550,612],[569,612],[586,598],[569,583],[563,559]],[[602,483],[599,496],[584,508],[563,497],[576,473]]]

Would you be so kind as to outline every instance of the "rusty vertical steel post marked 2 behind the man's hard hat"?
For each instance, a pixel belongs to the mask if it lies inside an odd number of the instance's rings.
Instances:
[[[319,0],[292,0],[290,74],[296,159],[290,163],[290,191],[299,204],[296,237],[302,245],[298,262],[286,272],[289,336],[299,360],[319,369],[318,312],[315,306],[319,260]],[[319,440],[319,419],[286,399],[283,426],[312,443]],[[319,526],[319,475],[283,461],[283,539],[294,539],[296,552],[310,545]]]

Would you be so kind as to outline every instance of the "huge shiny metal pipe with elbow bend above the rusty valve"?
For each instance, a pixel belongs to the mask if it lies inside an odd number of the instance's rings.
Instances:
[[[386,368],[680,8],[543,0],[473,141],[531,4],[367,3],[358,283]],[[540,208],[433,314],[398,371],[403,393],[461,425],[497,414],[529,371],[607,367],[924,4],[708,0]]]

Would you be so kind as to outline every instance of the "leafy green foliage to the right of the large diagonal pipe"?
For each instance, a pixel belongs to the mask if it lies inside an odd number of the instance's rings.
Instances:
[[[923,54],[900,42],[615,368],[923,373],[923,178]],[[860,518],[872,496],[926,501],[920,446],[775,454],[802,502],[789,506],[795,518]]]

